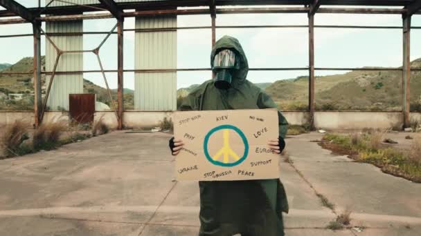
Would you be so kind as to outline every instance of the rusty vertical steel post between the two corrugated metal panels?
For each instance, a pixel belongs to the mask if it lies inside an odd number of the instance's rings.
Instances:
[[[123,80],[123,29],[124,29],[124,21],[117,22],[117,80],[118,80],[118,87],[117,87],[117,99],[118,99],[118,129],[123,129],[123,111],[124,111],[124,80]]]

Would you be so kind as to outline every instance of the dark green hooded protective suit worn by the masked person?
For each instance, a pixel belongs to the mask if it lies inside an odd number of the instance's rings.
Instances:
[[[240,56],[240,70],[233,72],[228,90],[219,90],[209,80],[190,92],[179,110],[236,110],[276,108],[274,101],[247,81],[249,65],[239,41],[224,36],[211,52],[230,49]],[[279,134],[285,137],[287,121],[278,112]],[[269,141],[269,140],[268,140]],[[279,179],[247,181],[199,181],[199,236],[280,236],[284,235],[282,212],[288,212],[287,196]]]

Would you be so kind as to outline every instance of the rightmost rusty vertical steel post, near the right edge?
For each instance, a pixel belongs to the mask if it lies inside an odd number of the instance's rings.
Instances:
[[[410,100],[410,81],[411,81],[411,59],[410,59],[410,52],[411,52],[411,16],[410,15],[403,15],[402,16],[402,23],[403,23],[403,63],[402,63],[402,115],[404,118],[404,128],[410,126],[409,122],[409,115],[411,110],[411,100]]]

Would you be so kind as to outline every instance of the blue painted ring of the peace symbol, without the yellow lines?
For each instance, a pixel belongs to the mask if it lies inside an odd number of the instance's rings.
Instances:
[[[231,162],[231,163],[224,163],[222,161],[216,161],[216,160],[212,159],[211,155],[209,155],[209,152],[208,152],[209,138],[213,135],[214,132],[216,132],[218,130],[225,130],[225,129],[234,130],[235,132],[237,132],[238,135],[240,135],[240,137],[242,139],[242,142],[244,144],[244,153],[243,153],[242,157],[240,159],[238,159],[237,161]],[[203,143],[203,149],[204,149],[206,159],[208,159],[208,161],[210,161],[215,166],[237,166],[238,164],[242,163],[242,161],[244,161],[247,158],[247,155],[249,155],[249,142],[247,141],[246,135],[244,135],[244,133],[239,128],[237,128],[235,126],[231,126],[231,125],[222,125],[222,126],[217,126],[213,129],[211,129],[206,134],[205,139],[204,139],[204,143]]]

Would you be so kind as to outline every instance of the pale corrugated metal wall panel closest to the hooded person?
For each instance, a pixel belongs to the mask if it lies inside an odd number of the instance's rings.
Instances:
[[[177,27],[177,17],[137,17],[136,28]],[[136,32],[134,68],[177,68],[177,32]],[[134,109],[176,110],[177,72],[137,72],[134,75]]]

